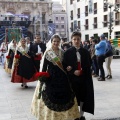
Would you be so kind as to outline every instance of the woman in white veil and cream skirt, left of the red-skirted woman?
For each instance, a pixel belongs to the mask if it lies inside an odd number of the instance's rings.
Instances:
[[[16,46],[17,46],[16,40],[12,40],[11,43],[8,45],[8,53],[6,56],[6,63],[5,63],[5,71],[7,73],[11,73]]]

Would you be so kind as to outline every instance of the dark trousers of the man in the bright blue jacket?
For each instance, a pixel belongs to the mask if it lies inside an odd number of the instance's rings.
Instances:
[[[97,56],[97,63],[98,63],[98,67],[100,70],[100,77],[101,78],[105,78],[105,72],[104,72],[104,68],[103,68],[103,63],[105,62],[105,56],[104,55],[100,55]]]

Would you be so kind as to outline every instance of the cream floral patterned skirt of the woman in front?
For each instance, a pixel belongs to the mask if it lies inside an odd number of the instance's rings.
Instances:
[[[80,117],[76,98],[75,104],[69,110],[56,112],[50,110],[42,99],[38,99],[39,87],[40,82],[38,81],[31,104],[31,113],[37,120],[70,120]]]

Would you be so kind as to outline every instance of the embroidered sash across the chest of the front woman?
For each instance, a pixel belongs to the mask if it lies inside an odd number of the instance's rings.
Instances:
[[[60,58],[54,53],[54,51],[49,50],[47,54],[52,59],[52,61],[66,74],[66,72],[63,69],[63,65],[60,61]]]

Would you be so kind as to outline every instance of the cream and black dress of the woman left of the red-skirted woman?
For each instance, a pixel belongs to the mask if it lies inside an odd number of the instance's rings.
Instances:
[[[8,56],[10,56],[10,58],[6,59],[6,63],[5,63],[5,71],[7,73],[11,73],[15,50],[16,50],[16,47],[14,47],[13,45],[11,45],[8,50]]]

